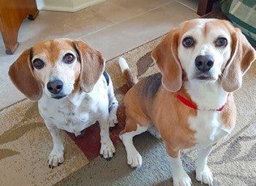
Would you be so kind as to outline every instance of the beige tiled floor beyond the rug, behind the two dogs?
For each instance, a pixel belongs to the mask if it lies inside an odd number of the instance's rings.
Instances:
[[[83,40],[111,59],[166,34],[184,20],[197,18],[199,0],[106,0],[78,12],[40,11],[24,20],[14,55],[0,38],[0,110],[25,98],[10,82],[12,62],[34,43],[57,37]]]

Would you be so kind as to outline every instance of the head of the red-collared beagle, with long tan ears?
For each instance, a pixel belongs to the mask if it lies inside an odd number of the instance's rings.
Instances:
[[[221,81],[224,90],[233,92],[241,87],[256,54],[240,29],[227,20],[195,19],[173,28],[154,48],[152,58],[167,90],[178,91],[185,73],[189,81]]]

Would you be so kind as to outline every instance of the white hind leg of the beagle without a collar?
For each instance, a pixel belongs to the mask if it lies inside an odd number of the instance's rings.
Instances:
[[[109,100],[109,117],[108,117],[108,125],[109,127],[114,127],[115,123],[118,123],[116,112],[118,108],[118,101],[116,100],[114,90],[113,90],[113,83],[111,79],[109,80],[108,85],[108,100]]]

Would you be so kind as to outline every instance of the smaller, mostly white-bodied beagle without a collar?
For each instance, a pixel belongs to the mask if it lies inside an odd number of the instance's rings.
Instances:
[[[99,153],[110,160],[116,152],[109,127],[118,122],[118,101],[104,68],[101,53],[84,42],[64,38],[35,44],[10,66],[12,82],[27,98],[38,101],[39,113],[53,138],[50,168],[64,162],[60,129],[80,136],[98,121]]]

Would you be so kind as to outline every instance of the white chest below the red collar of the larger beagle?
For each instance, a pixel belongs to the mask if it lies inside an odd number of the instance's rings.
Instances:
[[[195,148],[205,148],[225,138],[231,128],[226,128],[220,112],[198,111],[196,117],[189,118],[190,128],[196,131]]]

